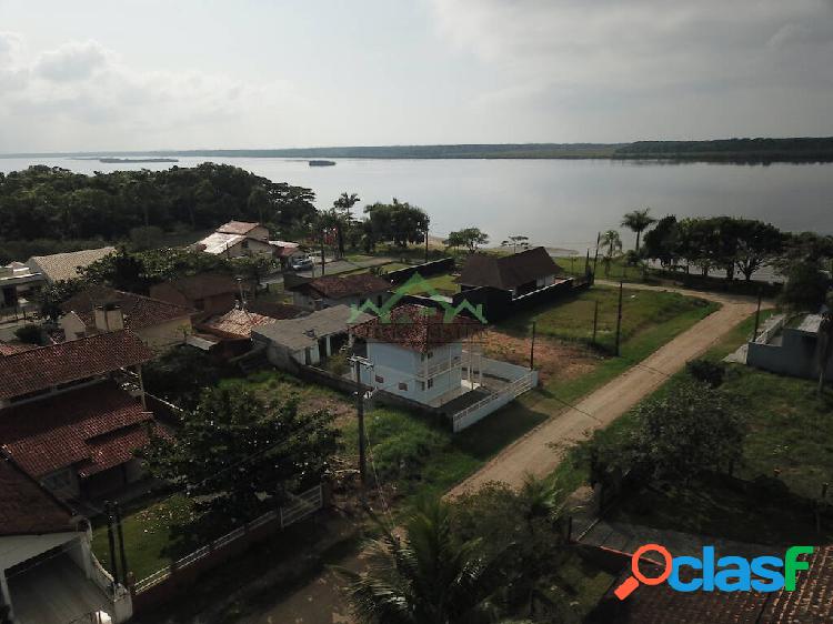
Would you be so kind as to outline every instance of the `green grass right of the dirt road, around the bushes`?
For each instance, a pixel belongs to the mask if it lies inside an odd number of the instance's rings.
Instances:
[[[721,360],[753,328],[751,316],[705,358]],[[653,397],[669,393],[686,378],[685,372],[678,373]],[[642,490],[626,496],[611,520],[754,543],[830,542],[833,521],[823,520],[817,533],[812,501],[821,497],[823,484],[833,474],[833,391],[829,388],[819,395],[815,385],[812,380],[731,364],[721,388],[749,426],[734,477],[705,475],[689,487]],[[631,412],[598,435],[626,434],[633,423]],[[585,482],[586,473],[568,460],[551,479],[571,492]],[[830,499],[827,493],[829,503]]]

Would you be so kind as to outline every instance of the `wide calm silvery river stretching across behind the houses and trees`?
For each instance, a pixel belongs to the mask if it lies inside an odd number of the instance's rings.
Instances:
[[[130,157],[123,157],[130,158]],[[493,244],[524,234],[538,244],[583,251],[600,230],[620,229],[622,214],[743,215],[789,231],[833,233],[833,164],[711,164],[608,160],[365,160],[310,167],[280,158],[181,157],[175,165],[225,162],[273,181],[308,187],[319,208],[343,191],[360,205],[400,201],[424,208],[432,235],[478,227]],[[71,158],[0,158],[0,171],[30,164],[81,173],[167,169],[171,163],[101,163]],[[633,236],[622,230],[625,246]]]

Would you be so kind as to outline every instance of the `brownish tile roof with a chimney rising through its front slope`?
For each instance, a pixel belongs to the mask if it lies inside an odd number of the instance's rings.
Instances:
[[[185,319],[195,312],[175,303],[100,285],[84,289],[63,302],[61,310],[74,312],[88,328],[93,328],[96,326],[94,309],[104,304],[116,304],[121,308],[124,326],[129,330],[140,330],[175,319]]]

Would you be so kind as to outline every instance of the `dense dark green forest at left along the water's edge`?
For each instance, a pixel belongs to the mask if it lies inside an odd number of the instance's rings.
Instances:
[[[94,175],[30,167],[0,173],[0,261],[90,241],[210,230],[230,219],[268,223],[289,236],[314,218],[313,200],[309,189],[228,164]]]

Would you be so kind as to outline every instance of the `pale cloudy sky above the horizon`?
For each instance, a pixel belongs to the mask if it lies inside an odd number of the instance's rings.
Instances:
[[[0,0],[0,153],[833,135],[833,0]]]

